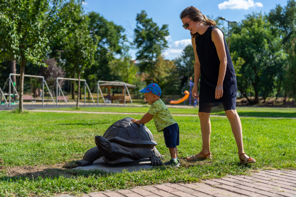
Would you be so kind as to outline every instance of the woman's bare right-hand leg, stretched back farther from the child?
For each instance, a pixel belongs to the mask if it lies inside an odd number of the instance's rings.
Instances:
[[[241,155],[241,153],[244,153],[244,144],[243,144],[243,133],[241,128],[241,119],[238,116],[236,110],[227,110],[225,111],[225,115],[227,116],[230,125],[231,130],[234,135],[234,139],[236,141],[236,145],[238,148],[238,155]],[[245,160],[247,155],[242,154],[241,159]],[[248,161],[254,160],[251,157],[248,159]]]

